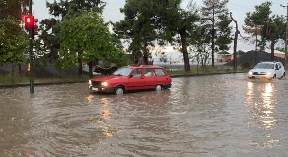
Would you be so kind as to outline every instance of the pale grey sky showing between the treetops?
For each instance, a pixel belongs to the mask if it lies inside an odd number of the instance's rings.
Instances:
[[[54,0],[47,0],[48,2],[53,2]],[[124,19],[124,15],[120,13],[120,8],[123,8],[125,5],[125,0],[104,0],[107,4],[103,12],[104,20],[107,21],[119,21]],[[189,0],[183,0],[182,7],[186,8]],[[229,12],[232,12],[233,18],[238,21],[238,27],[241,32],[241,35],[244,35],[242,26],[244,25],[244,18],[247,12],[253,12],[255,5],[260,5],[262,2],[266,2],[267,0],[229,0],[227,4],[227,8]],[[281,8],[280,4],[286,5],[288,0],[270,0],[272,1],[272,14],[279,14],[286,16],[286,9]],[[197,6],[201,7],[202,0],[194,0]],[[46,0],[33,0],[33,13],[36,18],[41,21],[42,19],[51,18],[48,13],[48,9],[46,8]],[[235,27],[235,23],[231,22],[231,25]],[[232,33],[234,34],[235,29],[233,29]],[[234,38],[234,36],[233,36]],[[240,39],[240,36],[239,36]],[[230,45],[229,52],[233,52],[233,42]],[[244,43],[241,39],[238,41],[237,45],[238,50],[253,50],[255,46],[249,43]],[[171,48],[167,48],[167,51],[171,50]],[[169,53],[168,53],[169,56]]]

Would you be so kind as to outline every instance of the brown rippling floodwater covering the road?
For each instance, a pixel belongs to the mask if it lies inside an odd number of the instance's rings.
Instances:
[[[288,157],[288,79],[246,78],[123,96],[86,83],[0,89],[0,157]]]

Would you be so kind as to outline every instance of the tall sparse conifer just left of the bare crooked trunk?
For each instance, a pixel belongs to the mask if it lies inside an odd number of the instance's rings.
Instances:
[[[228,1],[203,0],[201,7],[202,21],[210,26],[212,67],[214,67],[214,51],[229,49],[227,45],[232,41],[231,27],[229,27],[231,20],[228,18],[228,9],[226,8]]]

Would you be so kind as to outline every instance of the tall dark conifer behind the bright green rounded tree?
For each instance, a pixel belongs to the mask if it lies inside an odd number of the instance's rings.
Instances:
[[[41,34],[39,38],[43,41],[42,48],[48,51],[48,57],[51,59],[58,58],[60,49],[60,23],[64,18],[71,17],[90,11],[102,13],[105,7],[104,0],[54,0],[53,3],[46,2],[49,8],[49,14],[55,18],[45,19],[40,22]]]

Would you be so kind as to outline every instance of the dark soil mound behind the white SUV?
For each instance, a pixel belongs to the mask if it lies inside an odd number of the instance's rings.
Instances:
[[[239,56],[237,58],[237,64],[238,66],[241,66],[244,62],[250,62],[251,65],[253,65],[254,62],[254,56],[255,56],[255,51],[248,51],[245,54]],[[261,61],[271,61],[271,54],[265,52],[265,51],[257,51],[257,62],[259,63]],[[284,59],[281,57],[276,57],[274,56],[274,61],[280,61],[284,65]],[[233,66],[233,60],[227,62],[225,64],[226,66]]]

